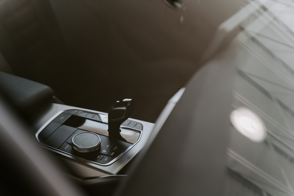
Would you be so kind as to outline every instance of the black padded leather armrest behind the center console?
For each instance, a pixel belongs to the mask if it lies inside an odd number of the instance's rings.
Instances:
[[[0,72],[0,92],[20,111],[30,110],[54,95],[49,86],[4,72]]]

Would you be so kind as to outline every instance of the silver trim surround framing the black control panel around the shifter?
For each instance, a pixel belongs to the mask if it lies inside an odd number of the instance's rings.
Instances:
[[[96,113],[101,117],[101,119],[103,121],[101,123],[107,125],[105,120],[103,120],[103,118],[107,117],[107,113],[99,112],[99,111],[95,111],[95,110],[84,109],[84,108],[78,108],[78,107],[69,106],[69,105],[51,103],[51,104],[49,104],[48,109],[46,110],[46,113],[44,113],[42,116],[39,116],[38,120],[34,124],[34,127],[38,130],[36,133],[36,139],[38,140],[39,143],[41,143],[38,139],[39,133],[52,120],[54,120],[54,118],[56,118],[58,115],[60,115],[61,113],[63,113],[66,110],[83,110],[83,111],[87,111],[87,112]],[[90,167],[90,168],[94,169],[93,171],[98,170],[98,171],[101,171],[106,174],[116,174],[119,170],[121,170],[123,168],[123,166],[125,166],[143,148],[143,146],[149,140],[149,136],[151,135],[151,133],[153,131],[153,127],[154,127],[154,123],[149,123],[146,121],[137,120],[137,119],[133,119],[133,118],[129,118],[129,120],[133,120],[133,121],[141,123],[143,125],[143,130],[138,130],[135,128],[128,128],[123,125],[121,126],[121,129],[127,130],[127,131],[131,130],[131,131],[140,133],[140,137],[138,138],[138,141],[136,143],[129,146],[123,153],[118,155],[118,157],[111,160],[107,164],[100,164],[100,163],[96,163],[93,161],[78,158],[70,153],[66,153],[66,152],[63,152],[59,149],[52,148],[52,147],[45,145],[43,143],[41,143],[41,144],[42,144],[42,146],[44,146],[44,148],[49,149],[49,150],[55,152],[57,155],[61,155],[61,158],[68,160],[67,163],[69,163],[69,164],[72,163],[73,165],[75,165],[76,168],[79,168],[79,171],[77,171],[77,173],[79,173],[79,174],[83,173],[83,171],[85,170],[85,167]],[[80,167],[78,167],[76,165],[76,163],[78,163],[80,165]],[[87,177],[87,176],[93,177],[93,176],[96,176],[96,174],[91,173],[91,174],[83,175],[83,177]],[[97,176],[100,176],[100,174],[98,175],[98,173],[97,173]]]

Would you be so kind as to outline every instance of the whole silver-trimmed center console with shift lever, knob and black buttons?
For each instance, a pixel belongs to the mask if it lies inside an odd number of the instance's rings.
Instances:
[[[133,100],[123,99],[103,113],[52,104],[39,119],[44,124],[36,138],[73,167],[78,177],[117,174],[143,148],[154,126],[129,118],[133,105]]]

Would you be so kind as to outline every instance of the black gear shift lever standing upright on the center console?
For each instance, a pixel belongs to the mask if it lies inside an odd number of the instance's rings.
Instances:
[[[127,120],[134,110],[134,100],[118,100],[108,110],[108,133],[109,137],[119,137],[121,124]]]

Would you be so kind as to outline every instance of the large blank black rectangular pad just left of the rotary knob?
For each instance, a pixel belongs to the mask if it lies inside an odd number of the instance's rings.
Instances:
[[[76,128],[62,125],[54,133],[52,133],[52,135],[50,135],[50,137],[45,141],[45,144],[53,148],[59,148],[76,130]]]

